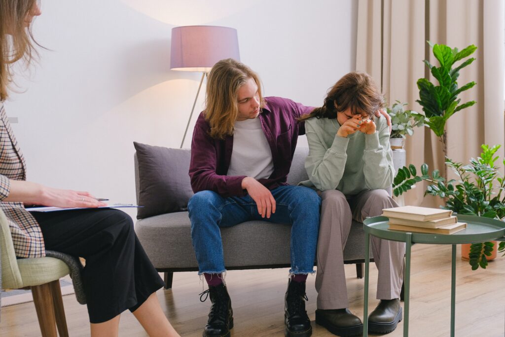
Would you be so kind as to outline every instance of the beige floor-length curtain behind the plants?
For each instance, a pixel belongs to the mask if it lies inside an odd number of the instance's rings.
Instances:
[[[356,69],[371,74],[391,105],[408,102],[422,111],[416,81],[435,80],[422,62],[432,56],[427,40],[464,47],[475,44],[477,59],[460,72],[460,85],[477,85],[460,94],[471,108],[453,115],[447,125],[447,156],[468,162],[480,154],[480,145],[501,144],[503,156],[505,119],[503,105],[505,5],[502,0],[359,0]],[[406,141],[407,163],[443,172],[441,143],[431,130],[418,128]],[[503,168],[502,168],[503,170]],[[418,184],[406,195],[407,205],[435,206],[439,201],[423,198]]]

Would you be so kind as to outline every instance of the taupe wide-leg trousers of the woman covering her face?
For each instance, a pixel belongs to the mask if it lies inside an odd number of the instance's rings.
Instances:
[[[317,246],[317,307],[348,308],[343,248],[352,219],[363,222],[366,217],[381,215],[383,208],[398,205],[384,189],[366,190],[351,199],[346,199],[336,189],[319,192],[319,195],[322,205]],[[371,238],[372,253],[379,269],[377,299],[397,299],[403,281],[405,243]]]

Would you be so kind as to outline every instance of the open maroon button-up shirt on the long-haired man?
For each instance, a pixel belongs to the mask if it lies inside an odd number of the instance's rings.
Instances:
[[[261,126],[272,152],[274,171],[259,182],[269,189],[287,185],[294,149],[299,134],[305,134],[305,124],[297,118],[310,113],[306,107],[280,97],[266,97],[266,105],[259,115]],[[212,190],[223,197],[244,196],[242,179],[245,176],[227,176],[233,150],[233,135],[215,139],[209,135],[210,125],[203,113],[198,116],[191,142],[189,177],[193,191]],[[251,144],[254,146],[254,144]]]

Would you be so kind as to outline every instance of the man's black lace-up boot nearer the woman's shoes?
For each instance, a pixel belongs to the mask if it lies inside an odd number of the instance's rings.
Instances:
[[[312,326],[307,311],[305,311],[305,282],[298,283],[289,280],[284,300],[284,334],[286,337],[309,337]]]

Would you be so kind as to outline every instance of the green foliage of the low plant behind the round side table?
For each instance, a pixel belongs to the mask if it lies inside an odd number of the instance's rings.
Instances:
[[[505,221],[505,178],[495,166],[498,156],[496,151],[499,145],[489,147],[482,145],[482,153],[477,159],[470,159],[470,164],[455,162],[445,157],[445,165],[450,167],[458,179],[446,181],[438,170],[431,176],[428,174],[428,165],[421,166],[421,176],[417,175],[414,165],[403,167],[393,181],[393,194],[401,195],[420,181],[427,181],[425,196],[431,195],[446,200],[444,209],[452,210],[458,214],[477,215]],[[502,161],[505,165],[505,159]],[[503,192],[503,193],[502,193]],[[472,269],[487,266],[487,257],[492,255],[494,244],[491,242],[472,244],[469,253],[469,263]],[[505,242],[498,247],[499,252],[505,255]]]

